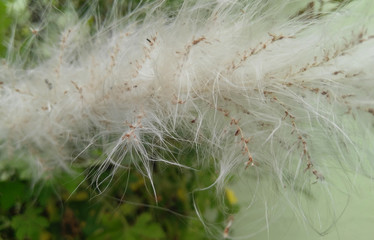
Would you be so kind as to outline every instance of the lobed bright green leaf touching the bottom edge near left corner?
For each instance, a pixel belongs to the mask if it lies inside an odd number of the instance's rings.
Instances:
[[[42,231],[49,223],[45,217],[40,216],[40,208],[29,207],[22,215],[17,215],[11,220],[11,227],[16,232],[17,239],[39,239]]]

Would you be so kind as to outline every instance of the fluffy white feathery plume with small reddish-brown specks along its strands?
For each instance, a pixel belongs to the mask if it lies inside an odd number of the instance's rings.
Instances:
[[[329,192],[336,168],[372,176],[373,2],[298,15],[308,3],[185,1],[170,18],[157,2],[94,37],[70,25],[48,60],[1,64],[2,159],[46,176],[99,148],[98,179],[136,168],[150,182],[153,161],[214,162],[218,189],[235,174],[295,209],[297,190]],[[196,163],[164,159],[174,143]]]

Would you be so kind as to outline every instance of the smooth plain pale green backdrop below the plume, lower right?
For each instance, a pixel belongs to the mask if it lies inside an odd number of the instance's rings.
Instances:
[[[304,208],[304,213],[314,221],[314,226],[323,231],[333,222],[331,212],[326,209],[333,208],[336,215],[342,213],[335,224],[331,225],[326,235],[319,235],[307,223],[298,211],[291,209],[290,203],[285,199],[279,199],[274,193],[265,193],[265,198],[257,198],[250,205],[251,197],[245,193],[246,181],[241,181],[234,186],[242,206],[249,206],[243,211],[243,214],[235,216],[232,231],[234,239],[271,239],[271,240],[370,240],[374,239],[374,184],[368,177],[356,175],[351,176],[352,182],[343,182],[339,186],[334,186],[331,190],[331,197],[325,200],[321,191],[320,198],[323,199],[318,203],[309,203],[310,208]],[[312,188],[319,188],[316,183]],[[336,190],[335,188],[339,188]],[[342,193],[340,190],[347,190]],[[271,192],[271,191],[270,191]],[[316,191],[318,192],[318,191]],[[261,194],[260,194],[261,195]],[[317,194],[318,195],[318,194]],[[272,202],[266,202],[264,199],[271,198]],[[303,197],[301,197],[303,198]],[[274,204],[277,200],[280,203]],[[267,200],[271,201],[271,200]],[[306,199],[300,201],[307,202]],[[331,204],[327,206],[326,202]],[[266,206],[265,206],[266,205]],[[272,208],[273,207],[273,208]],[[345,209],[345,210],[344,210]],[[264,218],[268,213],[268,219]],[[246,217],[247,216],[247,217]],[[319,220],[320,218],[320,220]],[[267,228],[266,222],[269,222]],[[248,236],[248,234],[254,236]]]

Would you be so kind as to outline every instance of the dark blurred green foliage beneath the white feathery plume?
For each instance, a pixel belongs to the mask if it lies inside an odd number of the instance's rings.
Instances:
[[[188,159],[196,159],[195,153],[181,160]],[[8,173],[0,181],[0,239],[207,239],[194,201],[218,229],[237,210],[229,199],[222,209],[214,190],[194,193],[214,182],[216,173],[209,168],[192,171],[155,163],[156,203],[149,180],[137,171],[117,173],[99,194],[88,174],[98,167],[34,182],[26,174],[27,163],[23,169],[20,162],[0,165],[0,172]]]

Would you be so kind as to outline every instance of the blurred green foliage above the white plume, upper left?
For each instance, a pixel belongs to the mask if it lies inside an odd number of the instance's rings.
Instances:
[[[88,31],[121,19],[154,0],[1,0],[0,59],[32,67],[47,59],[48,47],[59,42],[69,24],[84,18]],[[163,6],[176,10],[182,0],[166,0]]]

